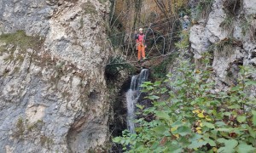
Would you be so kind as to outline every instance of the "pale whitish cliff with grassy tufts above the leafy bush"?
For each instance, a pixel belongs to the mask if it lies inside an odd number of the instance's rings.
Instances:
[[[204,3],[200,14],[207,13],[192,26],[189,40],[197,66],[203,53],[212,54],[214,80],[224,89],[236,84],[239,65],[256,65],[256,1],[215,0]]]

